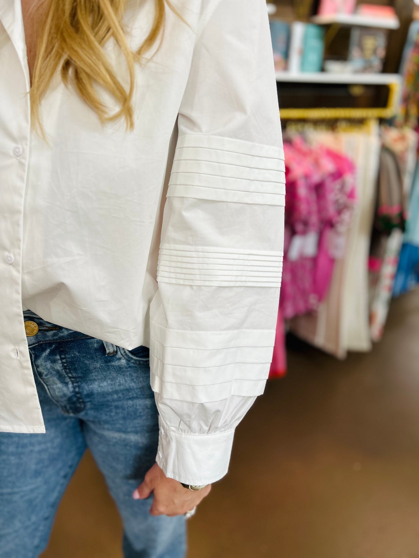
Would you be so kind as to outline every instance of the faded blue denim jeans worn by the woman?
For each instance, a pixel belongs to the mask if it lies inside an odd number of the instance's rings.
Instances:
[[[158,445],[149,350],[115,347],[31,311],[24,316],[39,327],[27,340],[46,434],[0,432],[0,558],[35,558],[45,549],[87,447],[120,511],[125,557],[183,558],[184,516],[150,516],[153,497],[131,496]]]

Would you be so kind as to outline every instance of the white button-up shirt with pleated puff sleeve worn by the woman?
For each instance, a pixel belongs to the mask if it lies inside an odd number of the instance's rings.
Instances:
[[[31,130],[20,0],[0,2],[0,430],[44,432],[23,305],[150,347],[157,463],[204,484],[263,393],[282,273],[284,156],[265,0],[175,2],[136,68],[135,129],[57,76]],[[126,13],[133,49],[154,2]],[[123,83],[121,53],[105,47]],[[111,110],[115,102],[99,94]]]

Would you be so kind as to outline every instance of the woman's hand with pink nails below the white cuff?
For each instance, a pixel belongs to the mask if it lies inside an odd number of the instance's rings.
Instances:
[[[179,516],[198,506],[211,490],[211,484],[201,490],[188,490],[178,480],[169,479],[155,463],[145,475],[144,482],[134,490],[136,500],[148,498],[154,492],[150,509],[152,516]]]

